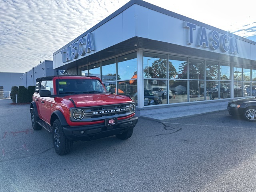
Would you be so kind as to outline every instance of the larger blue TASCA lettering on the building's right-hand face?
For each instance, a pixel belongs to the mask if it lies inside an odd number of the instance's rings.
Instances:
[[[236,38],[230,38],[226,34],[220,35],[217,31],[206,32],[205,27],[196,28],[195,24],[184,22],[187,28],[187,44],[194,44],[193,38],[196,36],[197,46],[211,48],[212,50],[220,49],[222,52],[230,54],[239,54]]]

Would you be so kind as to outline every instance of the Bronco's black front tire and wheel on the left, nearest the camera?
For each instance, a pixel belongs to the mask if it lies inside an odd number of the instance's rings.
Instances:
[[[52,142],[55,152],[59,155],[66,155],[72,150],[73,142],[65,136],[58,119],[52,124]]]

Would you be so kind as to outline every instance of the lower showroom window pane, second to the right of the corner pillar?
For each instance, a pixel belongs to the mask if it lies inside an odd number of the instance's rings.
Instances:
[[[169,80],[169,103],[188,102],[188,81]]]

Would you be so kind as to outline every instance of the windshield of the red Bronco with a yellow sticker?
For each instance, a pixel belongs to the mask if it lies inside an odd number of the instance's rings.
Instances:
[[[105,93],[106,90],[96,79],[56,80],[57,94]]]

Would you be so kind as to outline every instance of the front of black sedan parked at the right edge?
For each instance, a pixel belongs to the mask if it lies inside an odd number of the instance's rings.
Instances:
[[[247,121],[256,122],[256,97],[242,98],[228,102],[228,114],[243,116]]]

